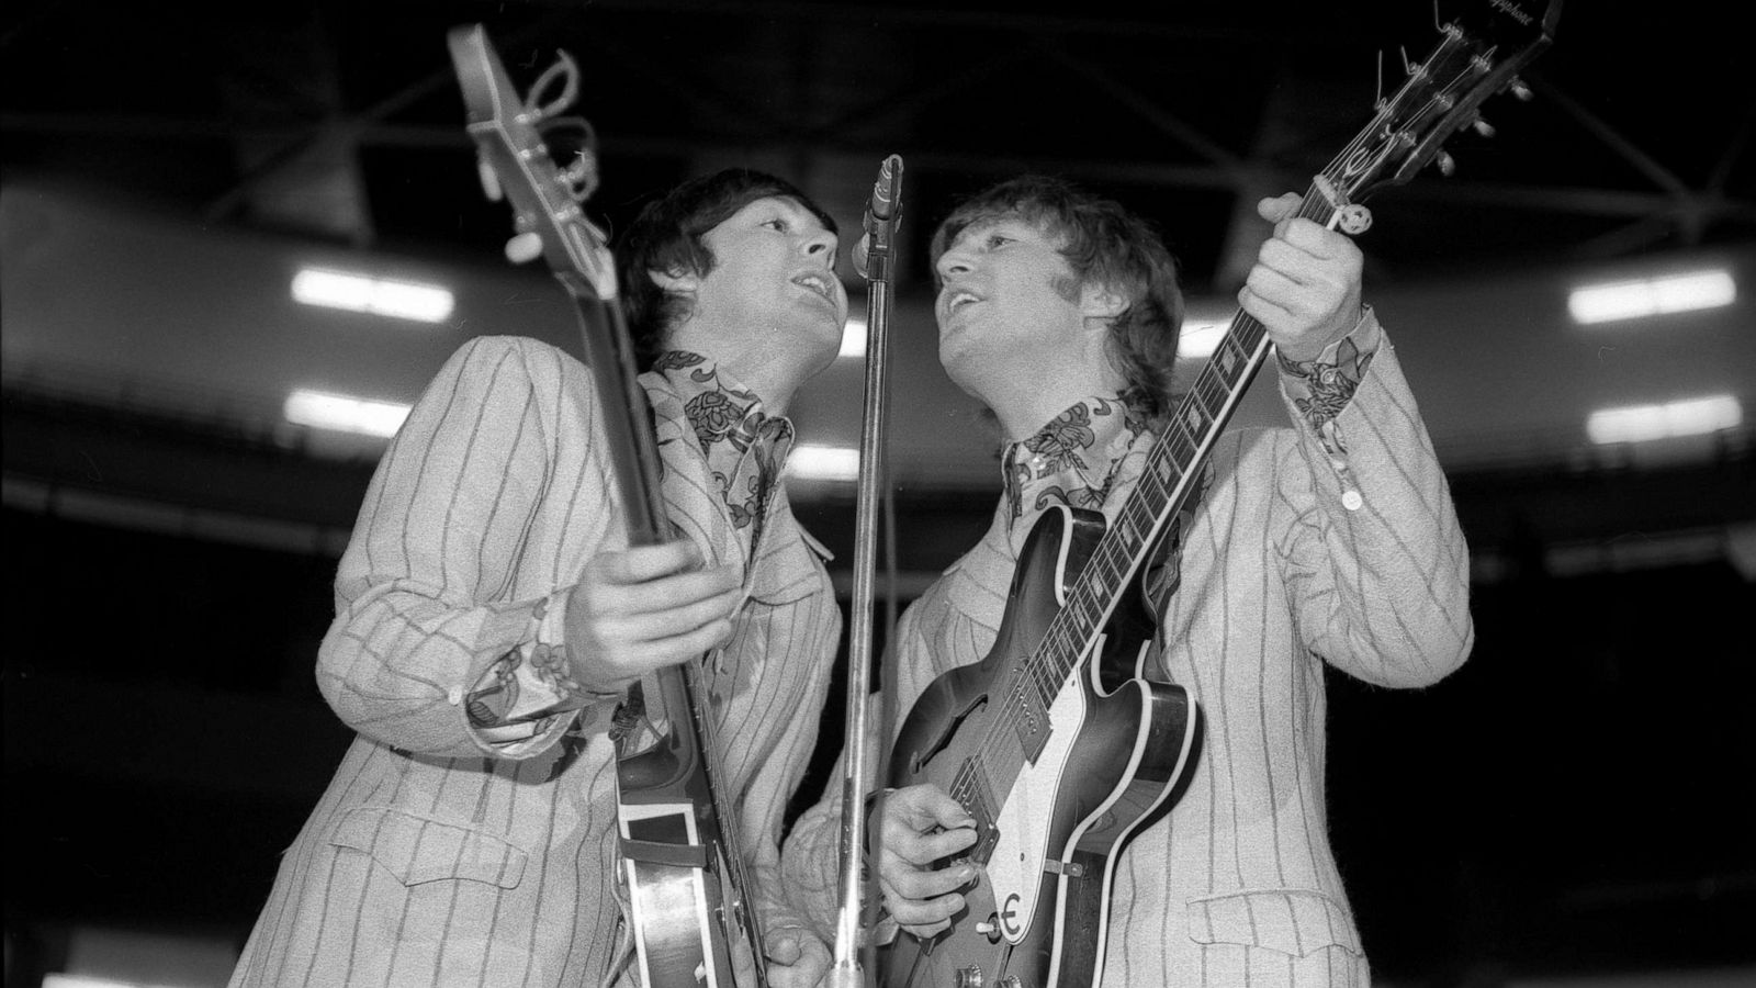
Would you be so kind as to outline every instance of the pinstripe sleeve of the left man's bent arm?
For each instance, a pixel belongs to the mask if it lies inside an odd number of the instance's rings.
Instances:
[[[574,575],[536,599],[504,594],[548,489],[606,498],[597,461],[558,452],[562,429],[595,427],[590,394],[583,367],[516,338],[467,343],[428,385],[379,461],[335,578],[318,686],[348,726],[465,758],[529,758],[565,730],[555,717],[532,740],[493,745],[462,700],[500,656],[558,645]]]

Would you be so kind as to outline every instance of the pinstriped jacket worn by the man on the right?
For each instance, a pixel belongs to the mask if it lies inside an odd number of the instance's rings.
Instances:
[[[1210,461],[1161,626],[1169,679],[1205,710],[1205,751],[1173,812],[1119,860],[1106,984],[1370,983],[1326,830],[1322,663],[1424,686],[1463,663],[1473,626],[1449,487],[1387,339],[1340,429],[1357,512],[1303,424],[1234,431]],[[1122,457],[1105,501],[1112,519],[1150,441]],[[932,679],[992,647],[1036,515],[1008,524],[1003,503],[985,538],[903,615],[897,719]],[[806,902],[834,890],[838,796],[831,788],[787,842],[788,890]]]

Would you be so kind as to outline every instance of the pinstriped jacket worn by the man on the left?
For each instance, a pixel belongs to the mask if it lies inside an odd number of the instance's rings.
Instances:
[[[745,564],[681,397],[644,374],[671,519]],[[358,731],[281,861],[232,984],[597,984],[616,939],[608,705],[497,745],[462,698],[513,649],[558,643],[565,591],[627,545],[588,371],[518,338],[437,374],[367,490],[335,580],[318,684]],[[739,800],[752,897],[783,909],[778,839],[815,744],[839,612],[785,492],[732,642],[709,672],[720,779]]]

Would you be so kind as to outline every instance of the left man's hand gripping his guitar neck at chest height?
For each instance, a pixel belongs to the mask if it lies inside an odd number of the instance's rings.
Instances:
[[[702,566],[692,541],[601,552],[567,594],[567,657],[588,693],[701,657],[732,633],[738,570]]]

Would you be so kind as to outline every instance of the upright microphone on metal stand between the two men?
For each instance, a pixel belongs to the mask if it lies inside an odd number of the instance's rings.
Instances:
[[[853,598],[848,624],[848,744],[841,774],[841,907],[836,914],[834,988],[864,988],[860,949],[871,944],[862,923],[860,891],[866,870],[866,700],[871,691],[873,548],[876,505],[885,478],[883,429],[885,369],[890,353],[892,248],[903,190],[903,158],[890,155],[878,171],[866,207],[866,236],[853,246],[853,267],[867,281],[866,294],[866,418],[860,427],[859,503],[853,522]]]

